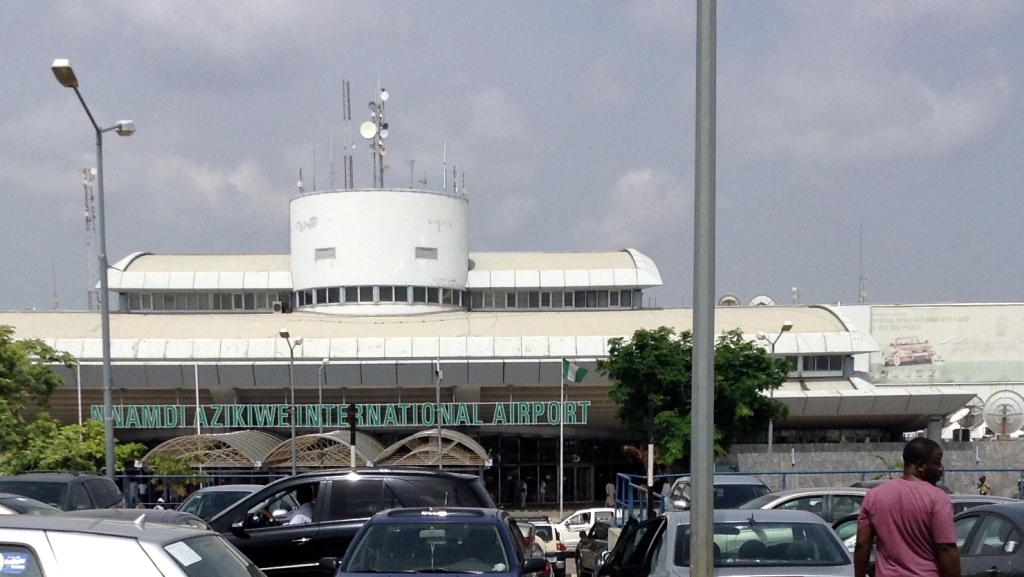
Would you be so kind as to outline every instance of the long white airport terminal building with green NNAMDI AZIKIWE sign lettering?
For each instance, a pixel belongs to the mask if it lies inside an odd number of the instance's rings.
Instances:
[[[689,308],[644,306],[644,290],[662,284],[650,258],[629,248],[471,252],[458,193],[309,193],[292,200],[289,218],[288,253],[140,252],[111,266],[119,439],[255,430],[285,440],[294,391],[298,432],[341,445],[354,418],[368,447],[404,443],[404,454],[422,455],[439,416],[441,451],[471,446],[500,500],[513,478],[529,483],[530,501],[554,500],[554,483],[542,482],[557,478],[560,429],[566,501],[599,498],[611,475],[636,468],[622,446],[643,432],[623,428],[594,369],[611,337],[691,327]],[[941,425],[948,435],[958,426],[949,417],[976,396],[984,403],[1024,382],[1019,351],[979,344],[989,338],[981,324],[1000,318],[993,338],[1024,341],[1017,304],[720,306],[716,330],[774,338],[792,323],[774,345],[796,368],[775,394],[791,409],[776,442],[884,441]],[[79,359],[53,396],[57,418],[102,414],[97,313],[0,313],[0,324]],[[591,371],[565,386],[561,405],[563,359]],[[995,365],[1006,370],[985,372]]]

